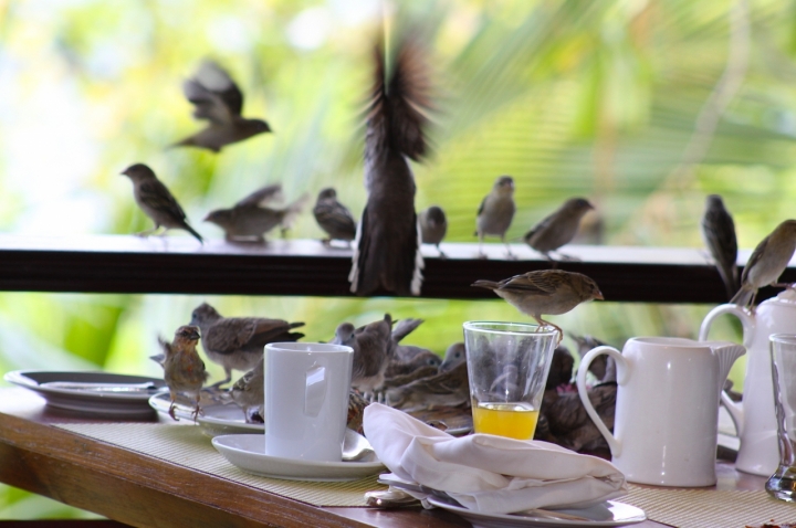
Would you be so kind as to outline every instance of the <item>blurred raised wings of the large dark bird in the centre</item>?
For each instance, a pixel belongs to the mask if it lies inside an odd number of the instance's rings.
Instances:
[[[415,39],[405,36],[395,47],[391,71],[388,71],[385,46],[375,49],[366,148],[389,147],[418,160],[428,148],[425,133],[431,108],[428,66]]]

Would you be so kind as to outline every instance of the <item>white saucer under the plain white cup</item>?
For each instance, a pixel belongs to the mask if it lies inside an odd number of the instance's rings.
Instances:
[[[265,454],[265,436],[229,434],[212,439],[224,458],[247,473],[285,481],[357,481],[384,469],[381,462],[314,462]]]

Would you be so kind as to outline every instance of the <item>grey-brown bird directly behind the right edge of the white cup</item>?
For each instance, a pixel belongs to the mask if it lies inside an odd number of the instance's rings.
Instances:
[[[389,314],[385,314],[384,319],[357,329],[350,323],[343,323],[329,341],[354,349],[352,387],[359,392],[373,394],[381,387],[384,373],[395,353],[391,330],[392,319]]]

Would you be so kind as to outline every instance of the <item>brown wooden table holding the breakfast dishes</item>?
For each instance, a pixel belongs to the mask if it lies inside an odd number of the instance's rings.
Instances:
[[[46,406],[24,389],[0,389],[0,482],[134,526],[470,526],[439,509],[315,507],[51,425],[97,421]],[[763,477],[730,463],[718,468],[720,489],[763,489]]]

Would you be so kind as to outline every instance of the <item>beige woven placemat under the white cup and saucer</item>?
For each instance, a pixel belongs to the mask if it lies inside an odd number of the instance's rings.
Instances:
[[[365,492],[387,489],[376,483],[377,475],[343,483],[280,481],[250,475],[227,462],[200,427],[193,425],[67,423],[55,426],[314,506],[365,506]]]

